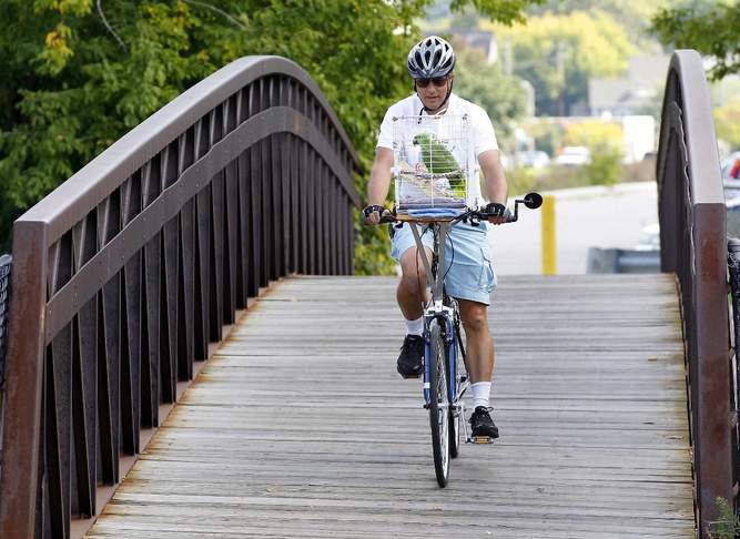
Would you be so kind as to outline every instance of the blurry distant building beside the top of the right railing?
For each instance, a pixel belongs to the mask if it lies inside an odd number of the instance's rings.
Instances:
[[[670,58],[665,54],[629,59],[621,78],[595,78],[588,82],[588,104],[595,116],[626,116],[645,112],[662,91]]]

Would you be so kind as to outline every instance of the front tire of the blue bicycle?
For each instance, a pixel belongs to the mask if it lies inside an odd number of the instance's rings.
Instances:
[[[446,343],[439,323],[432,321],[429,352],[429,427],[432,428],[432,452],[437,484],[447,486],[449,478],[449,405],[447,398]]]

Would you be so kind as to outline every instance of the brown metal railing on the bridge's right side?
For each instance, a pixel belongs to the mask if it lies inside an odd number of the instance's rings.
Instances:
[[[676,273],[687,352],[696,507],[701,537],[716,497],[733,500],[731,355],[724,195],[701,58],[670,62],[657,164],[661,266]]]

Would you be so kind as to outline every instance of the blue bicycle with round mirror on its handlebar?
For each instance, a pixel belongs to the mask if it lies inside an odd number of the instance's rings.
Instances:
[[[513,223],[518,220],[519,204],[530,210],[536,210],[543,204],[543,197],[537,193],[529,193],[524,199],[516,200],[514,213],[506,210],[505,222]],[[430,299],[424,305],[424,408],[429,410],[429,426],[432,429],[432,452],[434,456],[434,469],[437,484],[446,487],[449,478],[450,458],[459,455],[460,448],[460,423],[465,430],[466,444],[490,444],[488,437],[473,437],[468,431],[465,419],[465,404],[463,396],[470,386],[465,357],[465,346],[460,333],[460,316],[457,301],[445,293],[443,272],[445,267],[445,245],[447,234],[452,226],[460,221],[470,221],[473,225],[479,225],[480,221],[496,216],[478,210],[467,210],[462,214],[445,216],[438,214],[427,217],[410,217],[404,215],[398,217],[395,212],[383,215],[385,209],[373,206],[379,211],[381,223],[408,222],[426,270],[427,286],[432,289]],[[444,213],[444,212],[443,212]],[[427,260],[426,251],[422,243],[416,223],[425,223],[430,226],[434,234],[432,260]],[[459,354],[458,354],[459,352]],[[459,357],[463,358],[465,373],[459,370]],[[454,383],[450,383],[454,380]]]

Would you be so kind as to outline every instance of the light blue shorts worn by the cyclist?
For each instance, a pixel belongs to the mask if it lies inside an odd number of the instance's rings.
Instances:
[[[408,223],[401,228],[391,225],[391,256],[401,260],[407,250],[416,247],[414,234]],[[423,224],[416,225],[422,234],[422,243],[432,250],[432,231]],[[456,223],[445,243],[445,289],[459,299],[490,304],[490,293],[496,289],[496,274],[488,243],[488,223],[480,226]],[[452,264],[452,267],[450,267]]]

